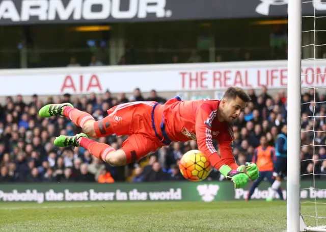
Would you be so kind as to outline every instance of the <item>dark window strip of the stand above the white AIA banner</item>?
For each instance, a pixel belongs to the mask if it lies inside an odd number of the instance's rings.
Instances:
[[[0,27],[0,68],[19,68],[22,46],[30,68],[65,67],[72,57],[89,66],[94,56],[110,65],[113,36],[123,38],[118,44],[124,46],[124,59],[118,64],[286,59],[287,24],[260,21],[264,20],[119,23],[110,24],[110,30],[87,32],[67,24]],[[326,33],[320,35],[324,37]]]

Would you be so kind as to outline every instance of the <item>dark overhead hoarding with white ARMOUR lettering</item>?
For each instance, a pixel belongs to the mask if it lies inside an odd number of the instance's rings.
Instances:
[[[0,25],[276,17],[287,15],[287,5],[288,0],[0,0]],[[308,2],[303,15],[314,11],[325,14],[326,4]]]

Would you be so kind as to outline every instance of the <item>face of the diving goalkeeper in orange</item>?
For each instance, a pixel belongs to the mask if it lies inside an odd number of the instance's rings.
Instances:
[[[234,99],[223,99],[222,109],[224,120],[227,122],[233,122],[239,117],[241,111],[243,111],[246,106],[247,103],[238,96]]]

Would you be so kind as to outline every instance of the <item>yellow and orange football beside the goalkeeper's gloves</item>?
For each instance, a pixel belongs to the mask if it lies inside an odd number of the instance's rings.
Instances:
[[[198,182],[207,178],[211,166],[204,153],[199,150],[189,150],[182,156],[179,168],[184,178]]]

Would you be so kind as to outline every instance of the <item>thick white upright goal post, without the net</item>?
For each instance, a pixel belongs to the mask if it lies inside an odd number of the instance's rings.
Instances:
[[[302,1],[288,1],[287,232],[300,231]]]

